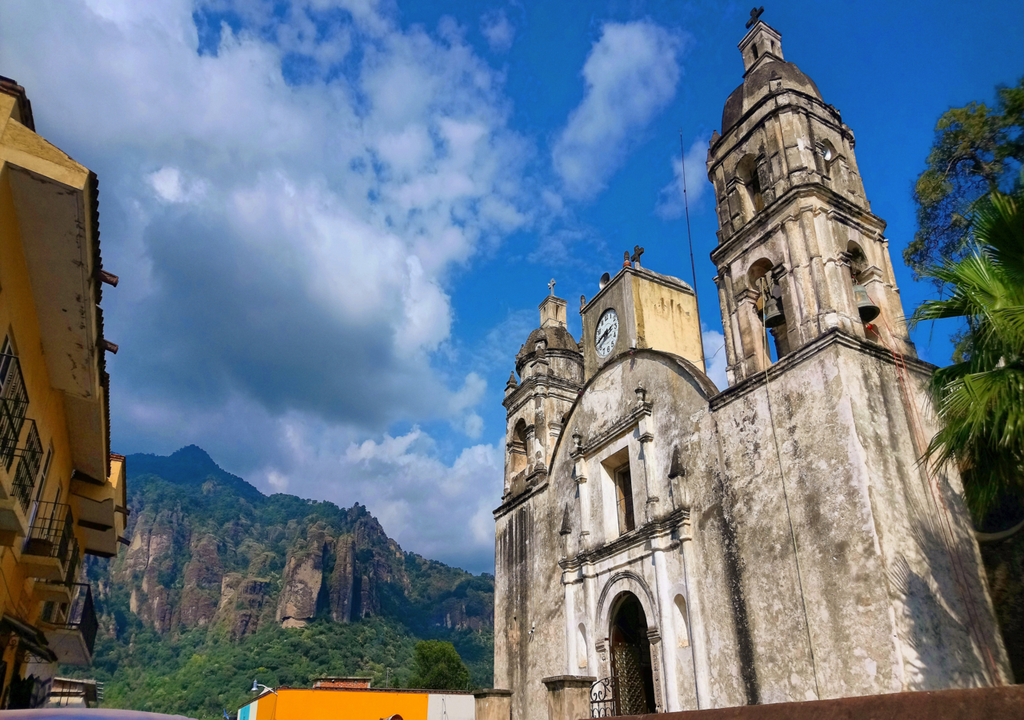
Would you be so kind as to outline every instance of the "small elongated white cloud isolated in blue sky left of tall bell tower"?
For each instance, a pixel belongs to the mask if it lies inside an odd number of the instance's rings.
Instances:
[[[575,198],[599,193],[676,94],[682,39],[649,20],[606,23],[583,67],[584,98],[552,153]]]

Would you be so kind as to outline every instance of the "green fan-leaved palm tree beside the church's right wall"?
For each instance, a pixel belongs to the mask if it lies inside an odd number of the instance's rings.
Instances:
[[[910,322],[967,321],[961,362],[933,377],[944,427],[926,457],[956,464],[968,507],[981,520],[1000,498],[1024,491],[1024,192],[986,196],[971,240],[963,259],[926,270],[951,294],[922,304]]]

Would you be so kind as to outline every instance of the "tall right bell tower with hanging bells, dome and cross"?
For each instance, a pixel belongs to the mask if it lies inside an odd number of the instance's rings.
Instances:
[[[708,153],[729,384],[834,329],[915,356],[853,132],[783,59],[781,35],[757,11],[749,27],[739,43],[743,82]]]

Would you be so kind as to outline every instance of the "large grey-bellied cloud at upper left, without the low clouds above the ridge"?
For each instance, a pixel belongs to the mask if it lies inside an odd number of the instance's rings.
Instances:
[[[354,20],[321,37],[306,11],[331,7]],[[40,131],[117,188],[100,199],[121,230],[104,261],[126,281],[108,325],[161,348],[117,358],[119,379],[199,407],[242,391],[368,430],[441,417],[478,432],[430,353],[451,334],[452,267],[530,222],[528,146],[496,73],[376,2],[296,2],[276,35],[224,26],[202,55],[194,9],[25,1],[0,24]],[[347,75],[286,81],[287,53],[339,43],[323,56],[362,53]]]

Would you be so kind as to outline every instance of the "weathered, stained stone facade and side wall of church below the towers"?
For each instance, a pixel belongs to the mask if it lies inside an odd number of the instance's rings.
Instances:
[[[933,494],[914,462],[911,417],[934,427],[925,368],[910,368],[912,411],[891,355],[839,332],[767,387],[756,376],[717,396],[665,353],[608,364],[550,476],[497,513],[495,682],[516,691],[513,717],[545,707],[545,677],[610,673],[623,592],[651,630],[659,708],[1009,677],[957,480]],[[609,458],[630,463],[637,528],[622,536]]]

